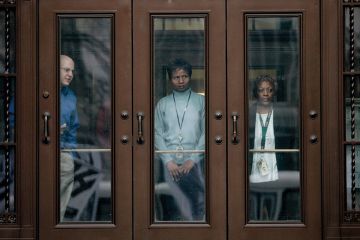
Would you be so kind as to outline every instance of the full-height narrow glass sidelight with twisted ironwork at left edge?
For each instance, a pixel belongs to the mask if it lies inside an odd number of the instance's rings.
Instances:
[[[16,223],[14,3],[15,1],[0,2],[0,224]]]

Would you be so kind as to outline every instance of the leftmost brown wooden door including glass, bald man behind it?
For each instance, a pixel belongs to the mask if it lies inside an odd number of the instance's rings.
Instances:
[[[130,240],[131,2],[39,14],[39,238]]]

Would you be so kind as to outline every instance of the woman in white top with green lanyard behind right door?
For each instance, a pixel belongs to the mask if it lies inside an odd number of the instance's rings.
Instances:
[[[252,92],[256,103],[249,108],[251,183],[278,180],[278,162],[288,156],[281,149],[298,148],[296,118],[279,109],[274,102],[276,91],[271,76],[261,75],[255,80]]]

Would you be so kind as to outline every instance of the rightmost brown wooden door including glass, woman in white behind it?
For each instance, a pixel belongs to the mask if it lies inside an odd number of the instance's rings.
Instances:
[[[321,238],[319,12],[228,1],[231,240]]]

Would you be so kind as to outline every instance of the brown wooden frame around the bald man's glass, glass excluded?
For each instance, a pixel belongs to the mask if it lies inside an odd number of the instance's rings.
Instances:
[[[74,1],[38,1],[39,4],[39,238],[40,239],[97,239],[132,238],[132,149],[131,144],[122,144],[120,136],[131,136],[131,119],[123,120],[121,112],[126,110],[131,116],[132,55],[131,55],[131,2],[129,0],[89,0],[81,5]],[[59,184],[59,97],[57,71],[59,63],[58,16],[71,14],[91,16],[91,14],[110,14],[113,20],[112,41],[118,44],[112,53],[112,122],[119,123],[112,128],[112,223],[73,223],[59,224],[57,197]],[[121,33],[121,34],[119,34]],[[121,84],[120,84],[121,83]],[[44,94],[47,92],[48,97]],[[118,93],[118,94],[114,94]],[[50,113],[50,142],[44,143],[44,112]],[[129,139],[131,141],[131,137]],[[115,159],[118,159],[115,161]]]

